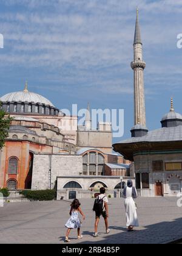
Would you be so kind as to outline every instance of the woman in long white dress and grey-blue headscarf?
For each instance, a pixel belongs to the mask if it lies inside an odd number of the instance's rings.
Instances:
[[[138,227],[138,218],[136,214],[136,205],[133,198],[138,196],[136,188],[133,187],[132,180],[127,181],[127,187],[124,188],[123,196],[125,198],[124,206],[126,209],[126,226],[129,231],[133,230],[133,227]]]

